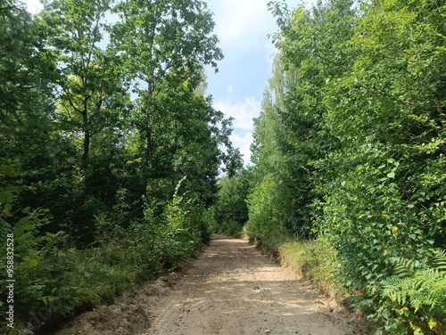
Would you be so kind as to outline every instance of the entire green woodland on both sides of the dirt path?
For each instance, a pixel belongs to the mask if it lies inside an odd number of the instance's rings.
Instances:
[[[45,333],[226,233],[298,245],[376,335],[446,333],[446,3],[268,9],[244,167],[205,93],[204,1],[0,0],[0,331]]]

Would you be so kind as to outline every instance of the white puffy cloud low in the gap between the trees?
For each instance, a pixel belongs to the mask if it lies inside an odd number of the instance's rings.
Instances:
[[[219,98],[214,102],[216,110],[221,110],[227,117],[234,118],[233,127],[244,130],[252,130],[252,118],[260,115],[260,107],[261,103],[253,97],[244,98],[239,102]]]

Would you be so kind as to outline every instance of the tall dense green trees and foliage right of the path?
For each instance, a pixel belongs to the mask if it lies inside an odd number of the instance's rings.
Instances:
[[[377,333],[443,333],[446,5],[269,9],[279,53],[255,123],[246,233],[328,243]]]

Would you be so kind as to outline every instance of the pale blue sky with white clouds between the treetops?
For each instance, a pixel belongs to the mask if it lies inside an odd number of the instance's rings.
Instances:
[[[252,118],[259,116],[262,94],[271,76],[274,45],[268,34],[277,31],[276,20],[268,12],[269,0],[208,0],[214,13],[215,34],[225,58],[219,61],[219,73],[207,70],[208,94],[214,108],[233,117],[232,143],[250,160]],[[298,0],[286,0],[295,7]],[[307,0],[311,3],[311,0]],[[37,12],[38,0],[27,0],[29,12]]]

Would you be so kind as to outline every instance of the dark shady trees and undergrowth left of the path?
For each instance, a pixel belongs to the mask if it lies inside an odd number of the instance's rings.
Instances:
[[[222,58],[213,27],[200,0],[54,0],[35,16],[0,1],[16,331],[111,302],[209,239],[219,170],[240,165],[231,119],[202,92]]]

